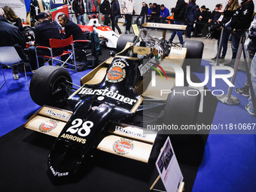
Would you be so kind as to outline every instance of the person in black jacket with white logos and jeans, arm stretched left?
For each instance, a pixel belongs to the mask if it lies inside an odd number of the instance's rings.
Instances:
[[[230,27],[232,30],[232,60],[227,65],[233,66],[236,59],[240,38],[251,25],[251,17],[254,12],[254,3],[251,0],[242,0],[241,5],[235,11],[225,10],[219,12],[224,12],[224,16],[231,16]]]

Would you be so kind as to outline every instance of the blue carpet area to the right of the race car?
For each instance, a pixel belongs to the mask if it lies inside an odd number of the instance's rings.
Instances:
[[[204,61],[202,66],[209,66]],[[202,68],[201,66],[201,68]],[[201,81],[204,74],[195,72]],[[246,72],[239,71],[236,75],[232,95],[240,100],[239,105],[224,105],[218,102],[215,117],[212,124],[238,124],[255,123],[255,119],[245,110],[248,98],[234,91],[237,87],[243,87],[246,81]],[[207,84],[209,90],[225,90],[227,85],[223,81],[217,81],[216,87]],[[256,172],[256,142],[255,136],[232,134],[209,134],[204,151],[203,162],[197,172],[194,182],[194,192],[198,191],[255,191]]]

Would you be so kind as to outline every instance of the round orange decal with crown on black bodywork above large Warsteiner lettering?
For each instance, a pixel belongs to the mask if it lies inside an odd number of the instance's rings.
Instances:
[[[129,66],[124,59],[116,59],[112,63],[111,69],[108,70],[106,80],[111,83],[119,83],[126,77],[125,66]]]

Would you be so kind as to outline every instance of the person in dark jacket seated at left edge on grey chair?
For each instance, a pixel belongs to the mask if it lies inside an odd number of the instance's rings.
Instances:
[[[17,26],[11,25],[11,23],[5,18],[5,12],[0,8],[0,47],[14,46],[19,54],[20,58],[24,62],[30,62],[24,48],[26,47],[26,41]],[[14,79],[19,79],[18,66],[11,66]]]

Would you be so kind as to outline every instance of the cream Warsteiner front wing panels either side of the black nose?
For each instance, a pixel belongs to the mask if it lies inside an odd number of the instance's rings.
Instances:
[[[72,117],[72,111],[44,105],[24,124],[27,129],[58,137]],[[148,163],[157,133],[145,134],[142,127],[111,122],[97,149]]]

